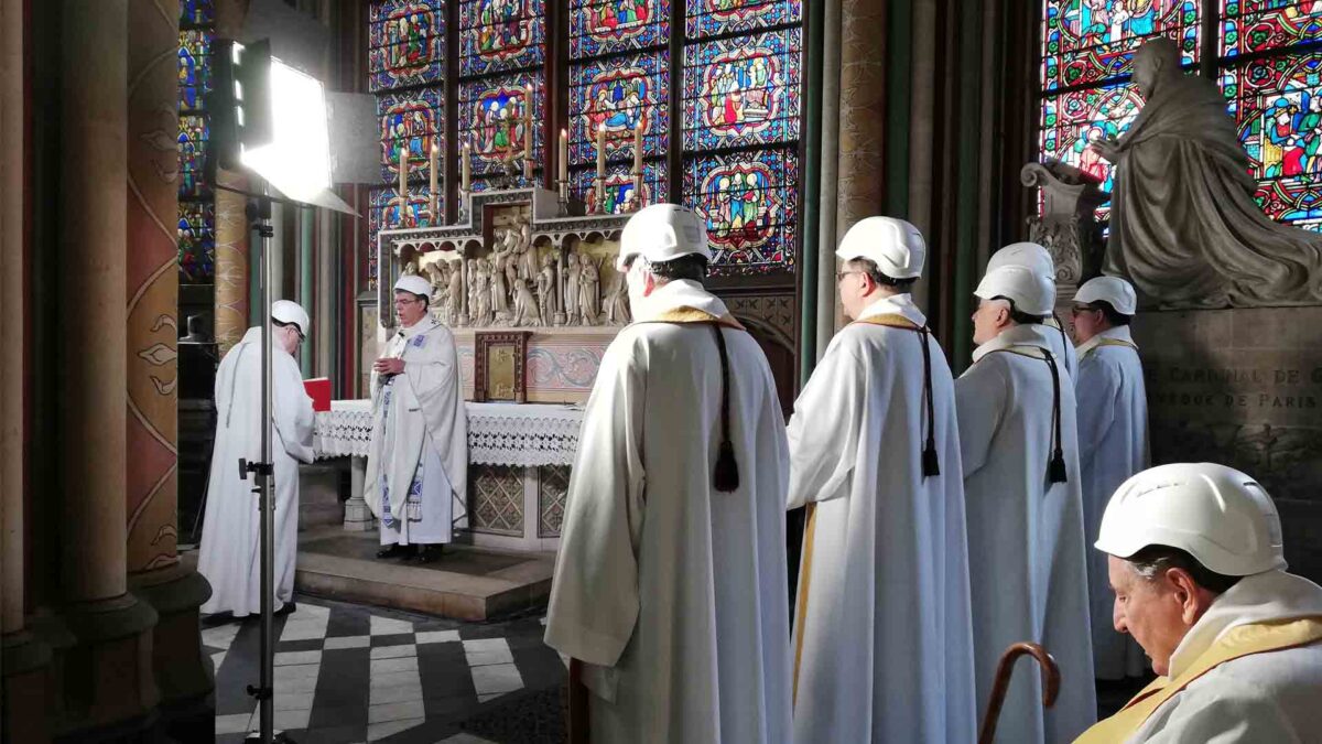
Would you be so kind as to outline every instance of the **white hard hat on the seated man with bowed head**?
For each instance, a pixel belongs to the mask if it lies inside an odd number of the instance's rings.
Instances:
[[[1210,462],[1144,470],[1110,496],[1096,548],[1125,559],[1149,545],[1179,548],[1223,576],[1285,568],[1272,498],[1248,475]]]

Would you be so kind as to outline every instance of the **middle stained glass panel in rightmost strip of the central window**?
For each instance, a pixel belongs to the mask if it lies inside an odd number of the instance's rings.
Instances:
[[[798,138],[802,30],[709,41],[683,50],[683,147]]]

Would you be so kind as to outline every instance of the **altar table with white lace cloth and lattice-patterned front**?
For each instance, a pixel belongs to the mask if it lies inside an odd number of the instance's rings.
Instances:
[[[582,408],[574,405],[465,402],[468,414],[468,527],[475,545],[555,551],[564,519],[570,466],[578,449]],[[317,459],[349,457],[352,491],[344,528],[368,531],[375,520],[362,500],[371,441],[371,401],[333,401],[316,414]]]

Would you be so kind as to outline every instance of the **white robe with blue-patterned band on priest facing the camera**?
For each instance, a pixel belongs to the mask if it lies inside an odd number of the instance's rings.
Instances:
[[[381,544],[438,544],[468,518],[468,417],[455,336],[430,315],[390,336],[381,356],[399,375],[371,373],[371,447],[362,496]]]

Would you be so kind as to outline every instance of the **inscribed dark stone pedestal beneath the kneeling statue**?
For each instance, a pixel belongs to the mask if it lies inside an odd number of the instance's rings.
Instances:
[[[1322,307],[1141,312],[1153,463],[1248,473],[1290,571],[1322,579]]]

